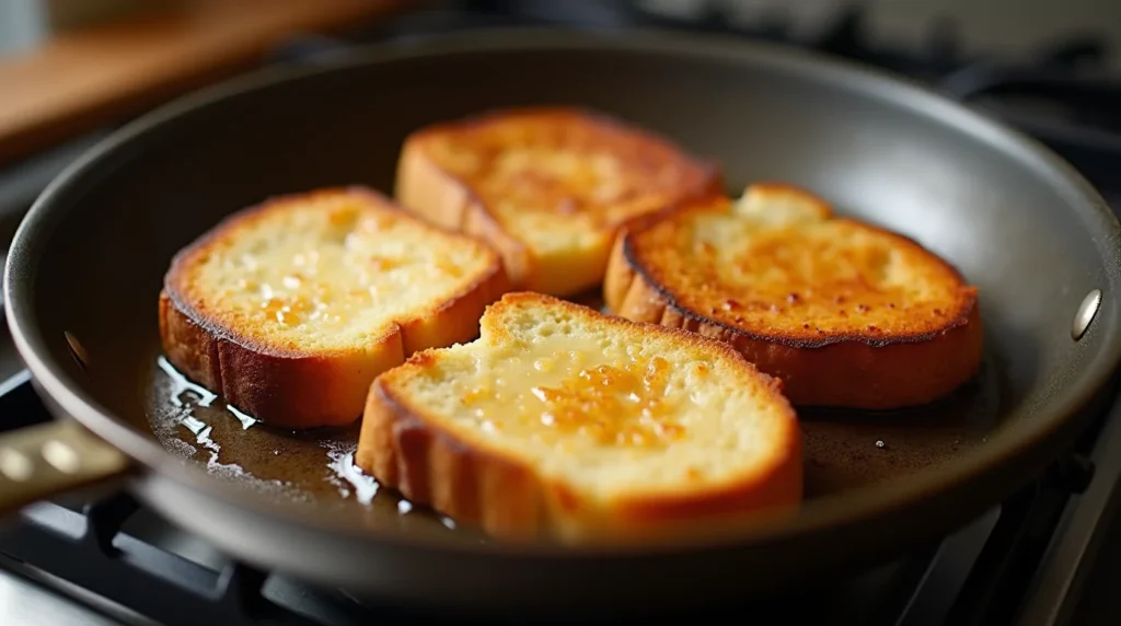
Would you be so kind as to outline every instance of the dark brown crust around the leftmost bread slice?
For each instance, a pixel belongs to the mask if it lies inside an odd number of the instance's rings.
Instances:
[[[180,250],[164,279],[159,331],[168,361],[188,379],[223,396],[228,404],[269,426],[307,429],[355,421],[377,374],[400,365],[418,349],[470,340],[478,334],[478,320],[487,306],[509,290],[499,256],[488,249],[492,256],[488,270],[470,286],[437,307],[398,320],[385,335],[370,339],[369,349],[361,352],[302,349],[261,342],[243,328],[224,324],[219,311],[192,302],[186,288],[191,264],[216,237],[230,228],[244,227],[275,207],[337,193],[401,211],[364,187],[274,197],[223,219]],[[401,211],[401,215],[408,214]]]

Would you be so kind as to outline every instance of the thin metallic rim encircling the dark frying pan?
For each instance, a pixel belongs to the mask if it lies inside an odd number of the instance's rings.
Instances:
[[[1109,283],[1101,286],[1101,289],[1105,299],[1113,301],[1114,306],[1103,307],[1108,310],[1099,312],[1099,319],[1092,326],[1090,337],[1106,333],[1099,339],[1106,342],[1106,345],[1099,352],[1094,362],[1087,365],[1086,375],[1072,381],[1059,394],[1065,402],[1054,400],[1048,402],[1039,411],[1031,412],[1031,419],[1026,420],[1028,423],[1011,429],[1000,437],[990,438],[985,447],[963,454],[957,463],[917,471],[909,477],[906,485],[895,482],[862,487],[844,494],[844,503],[840,502],[842,499],[840,495],[824,496],[807,503],[805,513],[795,520],[765,522],[702,540],[670,541],[637,548],[621,545],[590,549],[553,544],[475,545],[438,536],[418,539],[392,530],[376,530],[345,521],[330,520],[316,514],[315,511],[278,504],[263,497],[247,497],[245,489],[215,480],[201,468],[167,463],[175,457],[158,441],[143,437],[141,432],[115,417],[112,411],[102,407],[77,386],[76,381],[61,364],[49,357],[46,338],[41,336],[41,328],[35,319],[31,306],[29,288],[34,282],[35,268],[29,260],[29,249],[36,245],[34,242],[38,237],[48,234],[54,221],[61,218],[59,212],[53,208],[71,204],[72,189],[87,185],[89,179],[104,171],[114,157],[127,156],[137,141],[176,123],[182,118],[189,116],[193,112],[219,105],[228,99],[259,88],[297,82],[324,72],[341,72],[360,66],[442,57],[456,53],[502,50],[618,52],[759,65],[842,88],[860,90],[870,97],[899,106],[908,114],[935,119],[949,129],[969,133],[979,141],[997,148],[1003,147],[1002,151],[1013,148],[1020,152],[1018,159],[1021,166],[1030,168],[1038,176],[1053,179],[1056,191],[1062,193],[1075,214],[1080,215],[1087,226],[1097,227],[1102,232],[1103,240],[1099,244],[1099,250],[1102,252]],[[1121,241],[1121,226],[1117,216],[1109,209],[1096,189],[1058,155],[1020,131],[970,110],[905,76],[804,49],[761,41],[744,41],[732,37],[658,29],[604,34],[554,27],[499,28],[443,35],[400,46],[371,45],[348,48],[343,55],[328,55],[315,62],[293,62],[266,67],[180,96],[139,116],[87,150],[40,194],[12,240],[4,269],[3,295],[4,312],[17,351],[41,389],[66,414],[77,419],[95,435],[139,461],[149,476],[175,480],[191,489],[202,492],[207,497],[223,501],[223,504],[229,506],[249,508],[254,514],[279,518],[311,531],[331,532],[369,543],[507,557],[564,559],[605,555],[648,557],[667,551],[697,552],[745,548],[751,544],[791,539],[831,526],[859,523],[893,510],[905,508],[927,495],[954,493],[967,483],[971,476],[995,470],[1003,464],[1028,455],[1074,420],[1121,362],[1121,342],[1117,340],[1119,314],[1114,296],[1115,288],[1121,283],[1121,269],[1119,269],[1121,247],[1117,244],[1119,241]],[[1110,242],[1113,243],[1112,252],[1108,253],[1105,247]],[[1027,408],[1021,407],[1011,414],[1011,419],[1028,412]]]

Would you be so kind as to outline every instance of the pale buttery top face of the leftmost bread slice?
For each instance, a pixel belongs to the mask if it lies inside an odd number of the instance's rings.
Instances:
[[[473,245],[421,245],[439,236],[346,195],[268,215],[214,244],[197,297],[274,336],[309,331],[353,340],[455,289],[487,259]]]

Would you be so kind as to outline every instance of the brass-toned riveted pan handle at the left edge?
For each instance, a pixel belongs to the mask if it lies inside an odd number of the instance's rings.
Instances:
[[[74,420],[0,435],[0,516],[129,470],[128,456]]]

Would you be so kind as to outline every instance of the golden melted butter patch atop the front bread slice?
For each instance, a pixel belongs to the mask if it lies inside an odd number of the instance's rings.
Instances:
[[[580,440],[664,447],[686,435],[674,420],[677,401],[667,394],[668,361],[626,354],[604,358],[604,349],[590,344],[567,347],[489,364],[491,376],[463,390],[463,407],[484,432],[562,446]]]

